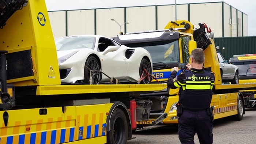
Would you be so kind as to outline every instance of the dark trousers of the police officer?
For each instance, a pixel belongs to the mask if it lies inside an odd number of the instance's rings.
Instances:
[[[178,118],[178,135],[182,144],[194,144],[197,133],[200,144],[212,144],[212,121],[206,111],[184,110]]]

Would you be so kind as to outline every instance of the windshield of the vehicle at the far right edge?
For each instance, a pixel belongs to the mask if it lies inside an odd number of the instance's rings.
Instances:
[[[232,62],[231,64],[238,67],[241,79],[256,78],[256,61]]]

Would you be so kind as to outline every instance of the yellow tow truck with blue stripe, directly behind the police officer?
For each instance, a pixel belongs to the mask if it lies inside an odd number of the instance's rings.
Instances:
[[[205,53],[204,69],[213,72],[215,82],[211,106],[214,106],[214,119],[229,117],[242,120],[245,107],[249,105],[248,98],[253,95],[256,84],[222,84],[221,72],[214,45],[214,34],[205,23],[199,23],[199,28],[187,20],[170,21],[165,29],[131,32],[113,39],[129,47],[142,47],[150,52],[153,60],[153,76],[156,80],[151,83],[166,83],[173,67],[185,69],[189,62],[191,51],[203,48]],[[208,34],[206,33],[208,32]],[[141,99],[150,99],[151,104],[149,120],[137,125],[154,125],[159,115],[167,113],[167,117],[157,125],[177,124],[176,103],[179,89],[166,88],[151,94],[141,94]]]

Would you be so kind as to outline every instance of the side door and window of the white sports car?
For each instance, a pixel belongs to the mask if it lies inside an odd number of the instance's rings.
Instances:
[[[100,48],[101,51],[98,52],[101,55],[102,72],[117,79],[125,77],[127,74],[128,62],[124,57],[123,49],[120,49],[120,45],[107,38],[99,38],[99,45],[105,45],[105,47],[103,47],[103,51],[102,48]],[[119,48],[116,51],[108,52],[103,55],[108,46],[118,46]],[[102,79],[104,79],[104,77],[107,78],[102,75]]]

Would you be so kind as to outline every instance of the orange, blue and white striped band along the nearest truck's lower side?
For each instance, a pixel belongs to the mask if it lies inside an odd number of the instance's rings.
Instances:
[[[15,126],[13,127],[13,135],[7,136],[8,126],[5,127],[4,123],[2,124],[0,130],[0,144],[8,143],[8,144],[56,144],[56,143],[67,143],[76,140],[82,139],[90,139],[92,137],[105,136],[106,132],[103,131],[103,127],[106,130],[106,123],[103,123],[104,114],[100,113],[97,117],[96,114],[93,114],[91,117],[91,125],[88,125],[89,115],[83,115],[83,126],[75,127],[71,126],[71,116],[67,116],[65,120],[65,128],[61,128],[61,122],[63,121],[62,117],[57,118],[57,122],[55,123],[54,129],[53,126],[53,118],[48,118],[48,122],[45,125],[46,129],[42,129],[42,124],[44,124],[43,120],[37,120],[37,125],[35,126],[35,132],[30,133],[30,130],[24,130],[23,133],[20,132],[20,124],[21,122],[15,122]],[[77,120],[80,122],[81,116],[77,116]],[[96,124],[96,120],[99,120],[99,124]],[[26,121],[26,128],[31,128],[32,121]],[[82,136],[79,136],[79,130],[82,131]],[[20,134],[19,134],[20,133]],[[7,136],[7,137],[6,137]],[[78,136],[78,137],[77,137]]]

